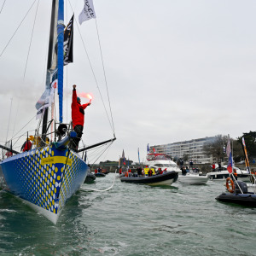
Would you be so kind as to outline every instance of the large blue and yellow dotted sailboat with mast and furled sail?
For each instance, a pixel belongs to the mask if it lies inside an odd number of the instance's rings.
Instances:
[[[42,130],[36,129],[34,137],[27,135],[27,141],[32,141],[34,148],[27,148],[27,151],[20,153],[12,148],[12,144],[9,147],[0,145],[0,148],[10,153],[9,157],[0,162],[1,187],[43,214],[54,224],[57,223],[61,210],[68,199],[79,190],[88,173],[89,168],[79,152],[115,140],[114,137],[75,151],[70,146],[77,134],[73,131],[72,122],[64,124],[62,121],[63,34],[65,28],[63,20],[64,1],[53,0],[45,91],[49,96],[51,84],[57,80],[59,121],[49,120],[49,106],[44,102],[43,108],[39,108],[43,119]],[[55,40],[55,34],[57,40]],[[55,41],[57,41],[57,51],[55,51]],[[57,61],[55,61],[54,55],[56,55]],[[49,127],[52,124],[54,138],[52,143],[48,143]]]

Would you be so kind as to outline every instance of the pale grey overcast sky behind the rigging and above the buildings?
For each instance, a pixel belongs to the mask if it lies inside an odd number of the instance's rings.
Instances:
[[[34,106],[44,91],[51,8],[50,0],[36,1],[33,6],[34,0],[3,2],[2,144],[31,119],[21,134],[37,127]],[[70,3],[78,20],[84,1],[65,3],[65,23],[72,15]],[[148,143],[153,146],[218,134],[236,138],[255,131],[255,1],[94,0],[94,5],[96,20],[85,21],[79,31],[98,85],[76,25],[74,63],[65,68],[68,100],[64,101],[64,121],[70,121],[72,85],[77,84],[78,92],[94,96],[85,110],[84,143],[113,137],[98,90],[110,116],[97,27],[117,137],[99,160],[119,160],[124,149],[126,158],[137,161],[137,148],[143,160]],[[91,161],[95,158],[90,157]]]

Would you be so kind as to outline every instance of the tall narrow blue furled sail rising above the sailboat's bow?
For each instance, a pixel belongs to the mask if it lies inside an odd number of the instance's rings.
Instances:
[[[63,53],[63,41],[64,41],[64,0],[59,0],[58,11],[58,94],[59,94],[59,119],[62,123],[63,113],[63,66],[64,66],[64,53]]]

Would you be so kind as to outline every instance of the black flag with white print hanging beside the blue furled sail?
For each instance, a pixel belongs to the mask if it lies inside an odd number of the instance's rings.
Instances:
[[[73,62],[73,16],[64,30],[64,66]]]

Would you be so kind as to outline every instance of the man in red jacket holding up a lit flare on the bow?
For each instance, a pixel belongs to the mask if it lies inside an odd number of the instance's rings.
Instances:
[[[76,86],[73,85],[73,97],[72,97],[72,121],[73,121],[73,130],[77,133],[77,137],[73,139],[72,148],[78,150],[79,141],[83,134],[84,129],[84,109],[90,106],[90,102],[87,104],[81,105],[81,100],[77,96]]]

